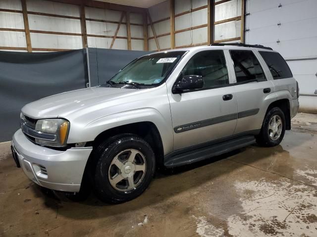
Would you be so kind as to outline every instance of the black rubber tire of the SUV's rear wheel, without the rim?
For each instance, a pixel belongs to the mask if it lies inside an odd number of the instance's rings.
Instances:
[[[276,138],[276,140],[273,140],[270,137],[270,132],[269,132],[269,122],[271,121],[271,118],[273,118],[274,116],[278,116],[279,118],[281,118],[281,122],[282,122],[281,133],[280,133],[279,137]],[[264,121],[262,124],[262,128],[261,128],[261,132],[257,136],[257,143],[261,146],[264,146],[264,147],[277,146],[283,140],[283,137],[285,134],[285,125],[286,125],[285,115],[284,115],[283,111],[278,107],[273,107],[273,108],[269,109],[269,111],[265,115],[265,118],[264,118]]]

